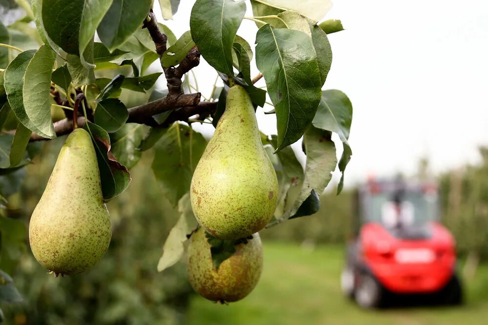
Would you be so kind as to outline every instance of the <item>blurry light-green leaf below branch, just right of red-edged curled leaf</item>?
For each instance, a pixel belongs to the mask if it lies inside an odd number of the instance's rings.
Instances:
[[[142,152],[138,150],[145,134],[145,126],[136,123],[127,123],[116,133],[110,134],[112,153],[117,160],[131,169],[141,158]]]

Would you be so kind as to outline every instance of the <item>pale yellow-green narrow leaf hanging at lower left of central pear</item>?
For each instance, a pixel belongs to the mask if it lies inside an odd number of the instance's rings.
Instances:
[[[175,265],[182,258],[184,243],[188,240],[187,234],[196,224],[189,193],[184,194],[178,202],[178,212],[180,212],[180,218],[164,242],[163,255],[158,262],[158,272]]]

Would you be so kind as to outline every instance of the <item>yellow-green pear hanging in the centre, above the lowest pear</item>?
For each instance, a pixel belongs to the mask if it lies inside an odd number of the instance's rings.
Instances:
[[[243,87],[233,86],[193,173],[193,212],[213,236],[239,239],[264,228],[277,197],[278,180],[261,143],[251,99]]]

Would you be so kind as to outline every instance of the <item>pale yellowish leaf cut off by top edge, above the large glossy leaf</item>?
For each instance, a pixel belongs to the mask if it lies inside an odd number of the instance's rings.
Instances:
[[[296,11],[314,22],[324,18],[325,14],[332,8],[330,0],[252,0],[253,13],[255,16],[276,15],[281,11],[293,10]],[[262,8],[262,6],[269,8]],[[256,14],[254,7],[261,7],[257,9],[259,14]]]

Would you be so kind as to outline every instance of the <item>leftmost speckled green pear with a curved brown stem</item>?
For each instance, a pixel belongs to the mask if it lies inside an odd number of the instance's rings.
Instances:
[[[58,276],[91,268],[108,249],[112,226],[103,203],[97,156],[88,132],[66,139],[29,224],[41,265]]]

